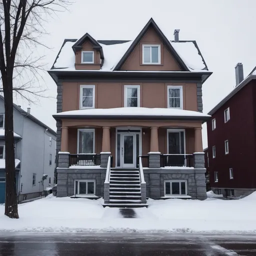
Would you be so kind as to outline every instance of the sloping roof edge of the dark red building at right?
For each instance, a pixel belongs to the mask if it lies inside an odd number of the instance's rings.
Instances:
[[[218,104],[216,104],[209,112],[209,115],[214,114],[225,102],[229,100],[234,94],[236,94],[240,89],[242,89],[246,84],[248,84],[252,79],[256,79],[256,66],[252,71],[245,77],[234,89],[228,93]]]

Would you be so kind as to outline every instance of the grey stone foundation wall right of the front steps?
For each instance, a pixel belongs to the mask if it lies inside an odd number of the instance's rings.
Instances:
[[[206,169],[144,169],[146,196],[160,198],[164,196],[164,180],[186,180],[187,195],[192,199],[205,199]]]

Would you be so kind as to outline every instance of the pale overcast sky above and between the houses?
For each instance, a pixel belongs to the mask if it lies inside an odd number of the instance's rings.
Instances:
[[[90,33],[95,39],[134,39],[152,17],[165,35],[173,39],[179,28],[180,40],[196,40],[213,74],[203,83],[203,112],[207,113],[235,85],[234,66],[243,63],[244,76],[256,65],[255,0],[76,0],[69,11],[48,18],[43,38],[51,49],[46,54],[52,65],[64,38],[79,38]],[[45,73],[47,94],[56,97],[56,84]],[[15,99],[14,99],[15,101]],[[16,100],[23,109],[26,102]],[[31,114],[54,130],[56,100],[41,99],[31,105]],[[203,146],[207,146],[203,126]]]

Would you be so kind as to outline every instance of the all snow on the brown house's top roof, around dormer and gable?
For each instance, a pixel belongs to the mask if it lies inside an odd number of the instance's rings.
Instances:
[[[109,45],[99,43],[104,53],[104,63],[102,68],[96,71],[112,71],[132,42],[133,41],[128,41]],[[198,49],[192,41],[170,43],[190,71],[201,71],[206,67],[202,56],[199,55]],[[84,69],[76,70],[74,68],[75,54],[72,49],[73,44],[73,41],[66,41],[64,43],[63,47],[60,49],[56,62],[54,63],[54,69],[65,68],[66,71],[84,71]]]

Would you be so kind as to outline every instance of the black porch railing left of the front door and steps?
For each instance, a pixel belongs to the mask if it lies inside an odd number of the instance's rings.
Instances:
[[[70,154],[69,166],[100,165],[100,154]]]

